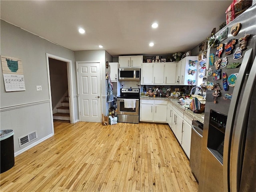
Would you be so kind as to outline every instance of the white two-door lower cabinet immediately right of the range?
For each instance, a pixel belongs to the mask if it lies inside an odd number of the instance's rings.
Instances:
[[[140,121],[166,123],[167,101],[166,100],[140,100]]]

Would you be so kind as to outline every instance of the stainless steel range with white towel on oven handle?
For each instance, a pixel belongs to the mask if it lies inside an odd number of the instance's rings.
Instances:
[[[139,123],[140,89],[121,88],[117,97],[118,122]],[[127,103],[130,104],[127,106]]]

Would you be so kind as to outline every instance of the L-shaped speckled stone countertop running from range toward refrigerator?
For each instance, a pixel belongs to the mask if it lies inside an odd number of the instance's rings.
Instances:
[[[140,96],[140,99],[150,99],[150,100],[167,100],[172,102],[173,105],[178,107],[180,110],[183,110],[186,114],[194,118],[195,120],[198,120],[201,123],[204,123],[204,113],[194,113],[190,109],[186,109],[184,106],[182,106],[178,99],[175,98],[168,98],[168,97],[149,97],[149,96]]]

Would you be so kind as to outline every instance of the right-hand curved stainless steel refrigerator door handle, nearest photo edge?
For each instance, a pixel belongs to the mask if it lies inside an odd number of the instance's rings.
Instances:
[[[232,170],[232,174],[230,174],[231,181],[231,191],[239,191],[240,190],[240,176],[242,170],[242,155],[244,153],[244,136],[246,134],[246,128],[248,123],[248,115],[250,110],[250,104],[252,97],[252,93],[256,84],[256,57],[252,64],[252,68],[250,74],[248,76],[248,80],[246,82],[246,86],[244,89],[244,93],[242,96],[242,101],[240,105],[240,109],[238,112],[238,120],[236,123],[236,129],[234,130],[234,142],[232,147],[232,163],[230,164],[230,168]],[[246,118],[247,117],[247,118]]]

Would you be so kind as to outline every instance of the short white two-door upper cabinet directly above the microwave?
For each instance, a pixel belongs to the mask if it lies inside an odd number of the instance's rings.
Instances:
[[[141,68],[142,55],[138,56],[119,56],[120,68]]]

